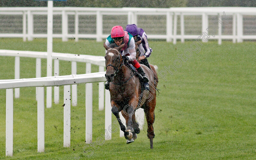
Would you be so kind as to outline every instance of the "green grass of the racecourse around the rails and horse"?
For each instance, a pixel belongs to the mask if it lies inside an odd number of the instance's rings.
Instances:
[[[173,65],[193,41],[149,41],[148,59],[158,73]],[[46,51],[46,39],[23,42],[1,38],[0,49]],[[54,39],[53,52],[104,55],[102,42]],[[256,43],[224,41],[203,43],[201,51],[182,66],[159,77],[155,108],[154,149],[149,147],[146,122],[137,140],[126,144],[119,132],[94,149],[88,158],[85,143],[85,85],[78,85],[78,105],[71,106],[71,147],[63,147],[62,99],[45,108],[45,152],[37,153],[37,101],[35,88],[21,88],[14,100],[13,157],[5,157],[5,90],[0,90],[0,159],[256,159]],[[183,55],[184,58],[184,55]],[[1,79],[14,78],[14,58],[1,57]],[[20,58],[20,78],[35,77],[35,59]],[[77,63],[77,74],[85,64]],[[42,60],[42,70],[46,70]],[[92,66],[92,72],[98,67]],[[71,62],[60,62],[60,75],[71,74]],[[46,73],[42,73],[46,76]],[[93,142],[104,133],[105,112],[98,111],[98,84],[93,84]],[[60,87],[60,93],[63,86]],[[112,121],[114,116],[112,115]],[[57,130],[54,128],[57,126]],[[93,149],[90,145],[88,149]]]

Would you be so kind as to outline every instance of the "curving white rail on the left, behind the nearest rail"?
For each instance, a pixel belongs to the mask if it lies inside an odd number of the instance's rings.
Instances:
[[[15,79],[20,79],[20,57],[36,58],[36,77],[41,77],[41,59],[47,58],[47,52],[32,52],[32,51],[14,51],[0,50],[0,56],[15,57]],[[91,73],[91,64],[99,66],[99,72],[103,72],[105,68],[105,59],[102,56],[93,55],[74,55],[69,53],[53,53],[54,59],[54,74],[59,76],[59,60],[71,61],[71,74],[76,74],[76,62],[86,63],[86,73]],[[99,110],[104,108],[104,83],[99,83]],[[19,88],[15,89],[15,98],[19,98]],[[59,88],[54,88],[54,102],[59,103]],[[47,107],[52,105],[52,97],[47,96]],[[77,104],[76,85],[72,85],[72,105]]]

